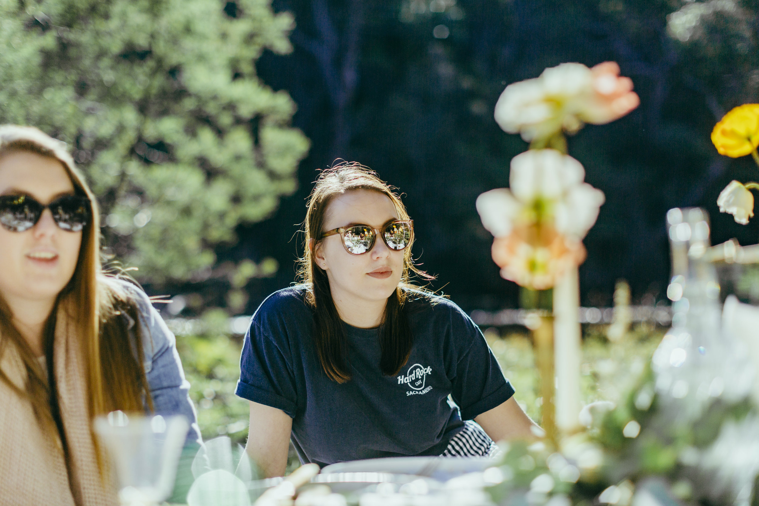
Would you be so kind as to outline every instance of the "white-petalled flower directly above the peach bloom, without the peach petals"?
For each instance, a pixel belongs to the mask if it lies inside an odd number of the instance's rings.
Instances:
[[[480,195],[477,212],[495,237],[509,235],[517,221],[549,219],[559,234],[582,239],[604,201],[603,192],[584,178],[584,168],[571,156],[555,149],[530,149],[512,159],[510,188]]]

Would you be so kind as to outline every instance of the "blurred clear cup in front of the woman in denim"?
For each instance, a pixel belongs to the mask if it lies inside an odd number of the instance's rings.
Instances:
[[[159,504],[172,493],[189,425],[184,416],[114,411],[95,420],[118,479],[121,504]]]

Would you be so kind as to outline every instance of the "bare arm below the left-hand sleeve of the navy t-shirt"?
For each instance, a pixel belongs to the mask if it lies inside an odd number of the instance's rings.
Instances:
[[[292,419],[276,407],[250,401],[250,426],[245,451],[266,478],[284,476]]]

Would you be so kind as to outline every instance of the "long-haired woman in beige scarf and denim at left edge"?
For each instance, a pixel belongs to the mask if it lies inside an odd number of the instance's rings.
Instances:
[[[105,275],[96,200],[63,143],[0,126],[0,502],[118,504],[93,418],[181,414],[200,434],[174,336]]]

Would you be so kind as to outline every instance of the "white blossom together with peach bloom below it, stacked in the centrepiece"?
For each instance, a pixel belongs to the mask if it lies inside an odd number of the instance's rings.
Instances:
[[[593,226],[603,193],[585,171],[555,149],[530,149],[512,159],[510,188],[477,197],[477,212],[496,239],[492,255],[503,278],[545,290],[585,258],[582,237]]]

